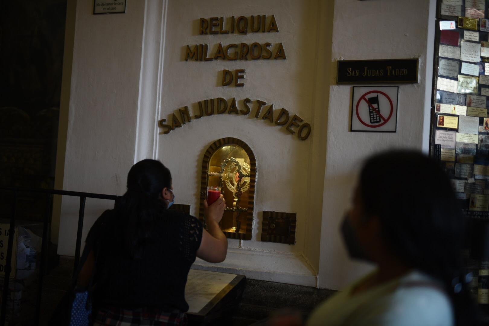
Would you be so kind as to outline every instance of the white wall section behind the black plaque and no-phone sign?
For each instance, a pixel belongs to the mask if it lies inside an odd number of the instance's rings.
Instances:
[[[429,114],[431,76],[427,61],[433,60],[434,8],[428,0],[336,0],[334,6],[332,64],[340,58],[420,58],[419,83],[400,85],[396,133],[350,132],[352,87],[334,85],[331,75],[326,175],[319,286],[339,289],[364,274],[370,266],[348,259],[339,233],[339,223],[350,206],[351,194],[362,161],[373,153],[391,148],[422,150]],[[430,14],[430,8],[433,10]],[[429,28],[428,28],[429,27]],[[430,35],[430,36],[428,36]],[[432,65],[428,64],[431,69]],[[428,80],[426,79],[428,76]],[[424,135],[423,135],[424,131]],[[424,138],[424,140],[423,140]]]

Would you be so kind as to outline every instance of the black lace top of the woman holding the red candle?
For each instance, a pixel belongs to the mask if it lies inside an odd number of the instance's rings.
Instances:
[[[187,311],[185,283],[202,239],[200,221],[184,213],[165,211],[156,221],[154,240],[145,246],[141,260],[128,258],[119,242],[121,235],[113,234],[111,223],[117,223],[117,217],[108,210],[97,219],[86,240],[93,241],[97,255],[94,304]]]

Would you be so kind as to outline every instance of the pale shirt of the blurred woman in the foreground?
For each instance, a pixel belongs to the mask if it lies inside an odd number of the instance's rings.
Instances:
[[[349,285],[320,304],[307,326],[453,326],[450,299],[430,286],[409,286],[414,282],[436,283],[413,271],[387,283],[352,295],[357,284]],[[404,286],[403,286],[404,285]]]

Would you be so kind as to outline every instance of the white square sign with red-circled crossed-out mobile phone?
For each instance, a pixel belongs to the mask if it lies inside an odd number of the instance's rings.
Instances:
[[[351,131],[396,132],[399,86],[353,87]]]

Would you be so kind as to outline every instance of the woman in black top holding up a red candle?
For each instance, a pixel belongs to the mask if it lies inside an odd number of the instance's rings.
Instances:
[[[208,231],[190,215],[169,210],[174,203],[170,171],[159,161],[137,162],[127,192],[90,229],[92,248],[78,278],[93,275],[94,325],[185,325],[184,290],[199,257],[223,261],[227,239],[219,227],[226,207],[221,197],[204,201]],[[122,324],[120,324],[122,323]]]

